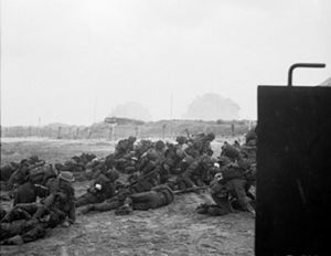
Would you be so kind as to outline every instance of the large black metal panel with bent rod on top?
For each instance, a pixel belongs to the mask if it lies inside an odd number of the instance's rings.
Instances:
[[[331,237],[331,87],[258,86],[256,255],[325,255]],[[327,250],[325,250],[327,249]]]

